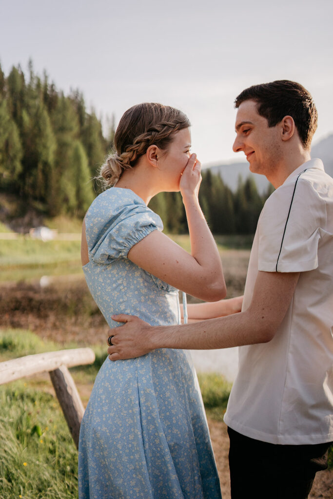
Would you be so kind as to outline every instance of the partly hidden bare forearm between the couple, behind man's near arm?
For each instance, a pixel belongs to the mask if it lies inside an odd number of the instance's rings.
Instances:
[[[189,320],[214,319],[238,313],[242,310],[243,296],[235,296],[213,302],[188,303],[187,313]],[[183,305],[181,305],[181,316],[183,318]]]

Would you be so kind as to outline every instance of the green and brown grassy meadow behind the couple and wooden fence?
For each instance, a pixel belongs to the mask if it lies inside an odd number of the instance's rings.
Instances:
[[[190,249],[188,236],[172,238]],[[216,241],[228,295],[241,294],[252,238]],[[70,280],[69,274],[82,276],[79,255],[78,241],[0,240],[0,362],[89,345],[96,355],[94,364],[71,369],[86,404],[105,359],[105,321],[84,279]],[[62,277],[43,288],[43,275]],[[198,373],[198,378],[208,417],[222,425],[231,384],[214,373]],[[329,459],[333,468],[332,451]],[[77,498],[77,451],[47,374],[0,386],[0,498],[16,497]]]

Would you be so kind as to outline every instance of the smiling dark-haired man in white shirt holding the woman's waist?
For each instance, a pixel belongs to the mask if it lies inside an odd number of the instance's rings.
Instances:
[[[111,360],[156,348],[241,346],[225,415],[232,498],[307,498],[333,441],[333,179],[311,160],[317,110],[275,81],[235,101],[234,151],[276,188],[258,221],[242,312],[184,326],[137,317],[112,329]]]

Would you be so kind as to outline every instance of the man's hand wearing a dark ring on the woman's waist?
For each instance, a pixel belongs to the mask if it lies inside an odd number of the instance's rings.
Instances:
[[[141,357],[154,350],[151,342],[151,326],[135,315],[112,315],[117,322],[125,322],[123,326],[109,329],[112,346],[107,352],[110,360],[132,359]]]

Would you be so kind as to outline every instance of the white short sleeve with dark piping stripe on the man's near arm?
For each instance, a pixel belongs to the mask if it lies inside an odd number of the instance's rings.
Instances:
[[[266,201],[258,221],[258,269],[303,272],[318,267],[325,203],[307,179],[292,179]]]

